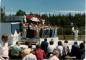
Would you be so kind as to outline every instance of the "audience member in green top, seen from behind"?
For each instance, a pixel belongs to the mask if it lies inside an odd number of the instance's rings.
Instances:
[[[19,42],[16,42],[15,46],[10,47],[9,49],[9,56],[10,59],[20,59],[21,58],[21,48]]]

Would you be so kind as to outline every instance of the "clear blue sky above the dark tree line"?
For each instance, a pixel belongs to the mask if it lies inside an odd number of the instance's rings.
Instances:
[[[5,6],[7,14],[16,13],[19,9],[26,13],[75,13],[85,11],[85,0],[2,0],[1,6]]]

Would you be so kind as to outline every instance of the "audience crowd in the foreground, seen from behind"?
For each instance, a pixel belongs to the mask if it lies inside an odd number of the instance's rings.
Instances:
[[[37,44],[33,49],[32,45],[26,45],[27,48],[20,47],[20,43],[16,42],[15,46],[9,46],[8,36],[2,35],[2,46],[0,47],[1,60],[64,60],[67,56],[74,56],[75,60],[85,58],[85,41],[78,45],[77,41],[69,49],[68,41],[58,41],[57,46],[54,45],[53,39],[48,43],[47,38],[41,44]]]

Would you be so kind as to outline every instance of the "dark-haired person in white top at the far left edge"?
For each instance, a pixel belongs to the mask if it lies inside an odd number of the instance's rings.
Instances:
[[[0,56],[3,57],[5,60],[8,60],[8,36],[2,35],[2,47],[0,48]]]

